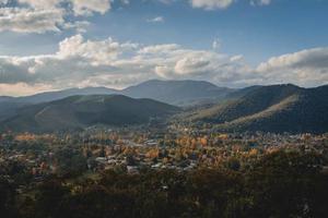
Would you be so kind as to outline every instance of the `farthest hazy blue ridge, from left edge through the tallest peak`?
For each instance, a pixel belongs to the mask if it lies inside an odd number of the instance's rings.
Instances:
[[[75,95],[126,95],[134,98],[151,98],[176,106],[218,102],[233,89],[220,88],[202,81],[148,81],[137,86],[117,90],[106,87],[70,88],[47,92],[26,97],[0,96],[0,121],[14,114],[20,107],[49,102]]]

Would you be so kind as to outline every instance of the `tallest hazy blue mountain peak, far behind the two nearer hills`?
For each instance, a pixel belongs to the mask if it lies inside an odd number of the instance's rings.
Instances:
[[[218,102],[233,89],[218,87],[204,81],[148,81],[128,87],[121,94],[134,98],[151,98],[176,106]]]

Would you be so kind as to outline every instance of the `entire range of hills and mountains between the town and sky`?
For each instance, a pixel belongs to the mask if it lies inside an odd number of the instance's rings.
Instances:
[[[328,86],[232,89],[202,81],[148,81],[122,90],[87,87],[0,97],[0,130],[142,124],[178,113],[178,122],[211,123],[218,131],[324,133],[327,111]]]

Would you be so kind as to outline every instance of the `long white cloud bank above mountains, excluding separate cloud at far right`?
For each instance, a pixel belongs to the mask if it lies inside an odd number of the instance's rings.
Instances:
[[[86,40],[75,35],[62,40],[54,55],[0,57],[0,84],[7,87],[17,83],[44,84],[57,89],[90,85],[122,87],[161,77],[234,80],[235,66],[231,64],[235,63],[226,56],[184,49],[175,44],[141,46],[112,38]]]

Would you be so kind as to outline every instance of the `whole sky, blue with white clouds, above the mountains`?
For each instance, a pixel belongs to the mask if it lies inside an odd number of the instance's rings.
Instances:
[[[328,84],[327,0],[0,0],[0,95]]]

